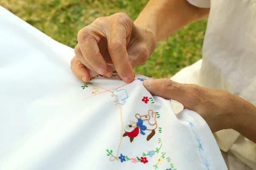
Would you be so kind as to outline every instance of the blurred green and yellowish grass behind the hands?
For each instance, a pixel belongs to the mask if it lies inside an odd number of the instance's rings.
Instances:
[[[27,23],[74,48],[77,33],[96,18],[117,12],[135,20],[148,0],[0,0],[0,5]],[[166,23],[168,24],[168,23]],[[148,61],[135,71],[154,78],[170,78],[201,58],[207,20],[191,23],[159,42]]]

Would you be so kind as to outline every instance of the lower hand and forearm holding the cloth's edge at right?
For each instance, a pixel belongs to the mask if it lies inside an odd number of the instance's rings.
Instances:
[[[152,94],[180,102],[184,108],[200,114],[212,133],[234,129],[256,142],[256,107],[227,91],[180,84],[170,79],[149,79],[145,88]]]

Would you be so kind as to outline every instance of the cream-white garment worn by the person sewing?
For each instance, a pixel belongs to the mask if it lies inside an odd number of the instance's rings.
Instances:
[[[210,7],[203,61],[185,68],[172,79],[229,91],[256,105],[256,0],[188,1],[198,7]],[[177,112],[181,108],[174,106]],[[232,152],[256,170],[256,144],[240,136],[234,130],[215,134],[221,150]],[[233,169],[234,162],[229,163],[230,170],[240,170]]]

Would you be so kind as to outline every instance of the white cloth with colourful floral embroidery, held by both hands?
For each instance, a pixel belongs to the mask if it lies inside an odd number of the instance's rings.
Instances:
[[[83,85],[70,70],[72,48],[2,7],[0,23],[0,170],[154,170],[154,165],[163,170],[227,169],[197,113],[183,110],[176,116],[171,102],[151,96],[141,79],[125,85],[118,77],[98,76]],[[135,117],[137,113],[144,116]],[[130,122],[138,118],[145,119],[145,135],[143,125]],[[147,141],[152,126],[157,126],[155,135]],[[110,161],[107,154],[116,155],[120,135],[136,128],[141,133],[132,142],[122,137],[117,157],[141,158],[144,152],[148,162]],[[148,150],[153,150],[152,157]],[[163,160],[157,164],[159,157]]]

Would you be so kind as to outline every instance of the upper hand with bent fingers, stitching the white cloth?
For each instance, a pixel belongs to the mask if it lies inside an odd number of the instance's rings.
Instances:
[[[113,64],[119,77],[130,83],[134,80],[133,68],[143,64],[156,47],[154,33],[135,25],[128,15],[116,13],[99,17],[78,33],[76,56],[71,61],[73,74],[84,82],[90,80],[86,68],[106,77],[112,77]]]

